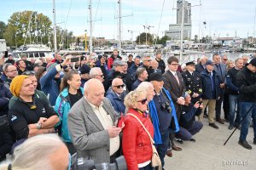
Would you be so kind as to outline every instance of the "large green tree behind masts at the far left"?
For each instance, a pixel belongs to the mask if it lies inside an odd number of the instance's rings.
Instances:
[[[52,32],[51,21],[44,14],[34,11],[15,12],[8,20],[3,37],[9,46],[26,43],[47,43]],[[37,42],[38,41],[38,42]]]

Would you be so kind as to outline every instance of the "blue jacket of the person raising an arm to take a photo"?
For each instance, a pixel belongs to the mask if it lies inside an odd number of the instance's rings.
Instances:
[[[55,101],[59,95],[59,84],[55,81],[55,75],[58,73],[57,69],[61,71],[60,65],[55,65],[55,67],[47,71],[44,77],[40,79],[41,90],[46,94],[52,106],[55,105]]]

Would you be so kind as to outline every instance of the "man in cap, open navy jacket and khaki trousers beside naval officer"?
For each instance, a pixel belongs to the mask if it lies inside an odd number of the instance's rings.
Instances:
[[[214,71],[214,63],[212,60],[207,60],[206,69],[201,72],[201,84],[202,84],[202,101],[203,101],[203,110],[205,111],[206,106],[209,108],[208,122],[209,126],[218,129],[218,126],[215,124],[215,107],[216,100],[220,96],[220,78],[218,73]],[[202,121],[203,114],[199,116],[199,120]]]

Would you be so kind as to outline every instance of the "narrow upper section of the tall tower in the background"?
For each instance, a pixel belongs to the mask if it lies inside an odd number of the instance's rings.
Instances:
[[[183,1],[177,1],[177,24],[181,24]],[[191,3],[184,1],[184,24],[191,24]]]

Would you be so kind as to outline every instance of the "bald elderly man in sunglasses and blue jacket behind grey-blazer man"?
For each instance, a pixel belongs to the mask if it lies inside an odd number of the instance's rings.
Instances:
[[[113,105],[114,111],[117,111],[119,115],[125,113],[124,99],[126,91],[124,90],[125,84],[122,79],[114,78],[111,88],[108,89],[106,98],[108,98]]]

